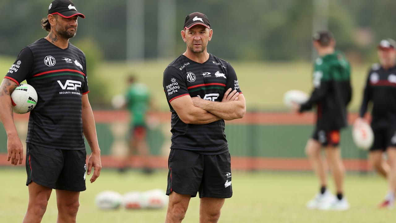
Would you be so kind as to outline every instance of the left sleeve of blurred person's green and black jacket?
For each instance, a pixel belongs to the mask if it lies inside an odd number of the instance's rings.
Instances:
[[[301,104],[300,112],[312,109],[312,106],[320,102],[329,91],[331,79],[329,77],[329,72],[326,67],[316,67],[313,76],[314,90],[312,90],[311,96],[308,101],[304,104]]]

